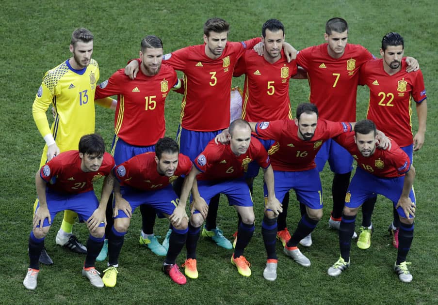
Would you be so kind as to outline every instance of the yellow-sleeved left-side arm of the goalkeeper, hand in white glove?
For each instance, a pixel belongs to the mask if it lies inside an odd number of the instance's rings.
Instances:
[[[46,77],[48,76],[45,76],[45,78]],[[55,97],[54,91],[53,90],[50,91],[44,84],[44,80],[43,80],[43,83],[38,89],[35,100],[33,101],[32,104],[33,121],[35,122],[38,131],[40,132],[41,136],[44,138],[44,141],[46,142],[48,147],[48,151],[47,151],[48,161],[50,161],[54,156],[60,153],[58,145],[56,145],[55,139],[51,134],[49,121],[47,121],[47,116],[46,116],[46,111],[49,108],[50,104],[52,103],[54,97]]]

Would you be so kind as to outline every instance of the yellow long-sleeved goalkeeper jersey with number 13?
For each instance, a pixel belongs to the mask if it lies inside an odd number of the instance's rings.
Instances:
[[[43,77],[32,106],[33,120],[41,136],[53,135],[61,152],[77,150],[81,137],[94,133],[98,80],[99,66],[93,59],[81,70],[73,69],[66,60]],[[56,110],[51,128],[46,116],[50,104]]]

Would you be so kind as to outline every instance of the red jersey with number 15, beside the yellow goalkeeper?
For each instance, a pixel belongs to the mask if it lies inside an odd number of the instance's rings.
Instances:
[[[178,81],[175,70],[164,63],[157,75],[146,76],[140,69],[134,80],[120,69],[97,87],[95,98],[117,94],[114,116],[117,137],[130,145],[155,145],[165,133],[166,96]]]

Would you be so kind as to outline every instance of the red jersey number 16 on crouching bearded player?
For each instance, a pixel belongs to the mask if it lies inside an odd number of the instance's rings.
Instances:
[[[276,141],[268,153],[272,168],[281,171],[302,171],[316,167],[315,156],[321,145],[331,137],[351,131],[347,122],[331,122],[320,119],[311,140],[298,137],[298,126],[292,120],[260,122],[256,125],[256,133]]]

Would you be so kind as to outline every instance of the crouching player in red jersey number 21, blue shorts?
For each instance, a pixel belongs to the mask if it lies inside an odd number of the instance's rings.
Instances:
[[[38,203],[33,216],[33,229],[29,237],[30,264],[23,285],[29,290],[36,288],[41,251],[56,213],[70,209],[87,223],[90,236],[87,241],[87,256],[82,275],[91,285],[103,287],[102,279],[95,269],[96,257],[103,245],[105,233],[105,209],[113,189],[110,175],[114,168],[113,157],[105,152],[102,137],[85,135],[79,141],[79,151],[62,152],[52,158],[35,175]],[[105,177],[100,202],[93,183]]]

